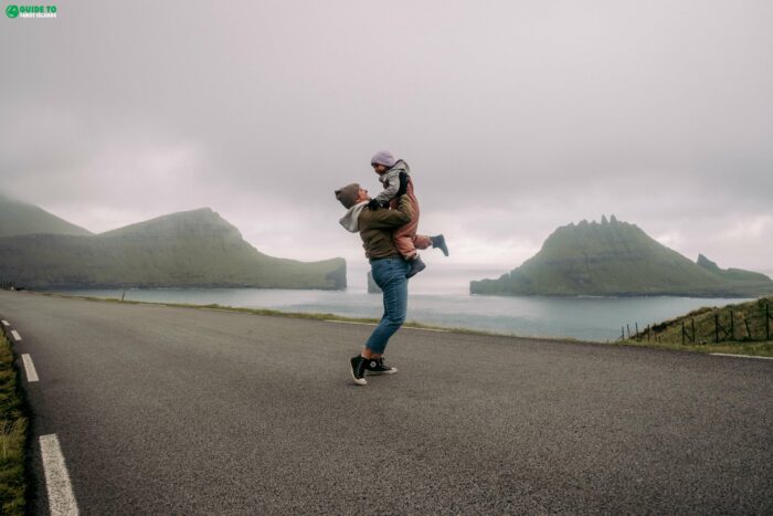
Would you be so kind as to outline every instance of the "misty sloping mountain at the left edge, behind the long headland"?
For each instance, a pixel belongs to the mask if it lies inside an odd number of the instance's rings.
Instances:
[[[0,238],[20,234],[89,235],[92,232],[52,215],[36,206],[0,193]]]

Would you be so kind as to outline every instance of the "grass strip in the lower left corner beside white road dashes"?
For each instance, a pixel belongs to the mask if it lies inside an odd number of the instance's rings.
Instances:
[[[2,514],[24,514],[28,420],[13,367],[13,350],[0,331],[0,507]]]

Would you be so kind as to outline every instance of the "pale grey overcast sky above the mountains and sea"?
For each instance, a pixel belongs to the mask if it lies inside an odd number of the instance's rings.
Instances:
[[[391,149],[436,271],[504,273],[614,213],[773,274],[769,0],[57,7],[0,21],[0,185],[91,231],[207,206],[358,270],[332,191],[378,192]]]

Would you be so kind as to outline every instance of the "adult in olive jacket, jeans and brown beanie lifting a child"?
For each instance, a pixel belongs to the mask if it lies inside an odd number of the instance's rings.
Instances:
[[[352,357],[351,377],[358,386],[366,386],[366,372],[370,375],[392,375],[398,372],[384,365],[384,349],[389,339],[405,322],[407,310],[409,263],[394,244],[392,233],[411,221],[413,209],[405,196],[407,178],[401,177],[398,191],[398,206],[394,210],[371,209],[368,207],[368,190],[358,183],[336,190],[336,198],[348,210],[340,220],[341,225],[351,232],[359,232],[366,256],[370,260],[373,281],[383,295],[384,314],[371,334],[362,351]]]

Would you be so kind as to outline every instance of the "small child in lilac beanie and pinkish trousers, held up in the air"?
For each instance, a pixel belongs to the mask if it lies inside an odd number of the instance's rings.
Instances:
[[[374,199],[370,201],[369,208],[385,208],[391,206],[394,208],[396,200],[394,196],[400,189],[400,175],[404,173],[407,179],[407,190],[405,194],[411,199],[411,204],[414,211],[414,217],[411,222],[398,228],[394,231],[394,245],[400,251],[405,260],[409,261],[411,270],[407,272],[406,277],[415,276],[417,273],[422,272],[426,265],[422,262],[419,256],[417,249],[427,249],[430,245],[437,248],[443,251],[443,254],[448,255],[448,248],[445,244],[445,238],[442,234],[437,236],[426,236],[417,235],[416,229],[419,228],[419,201],[416,196],[413,193],[413,181],[411,180],[411,170],[407,164],[402,159],[395,159],[392,152],[389,150],[381,150],[375,152],[375,155],[370,160],[373,170],[379,175],[379,181],[384,186],[381,193],[375,196]]]

